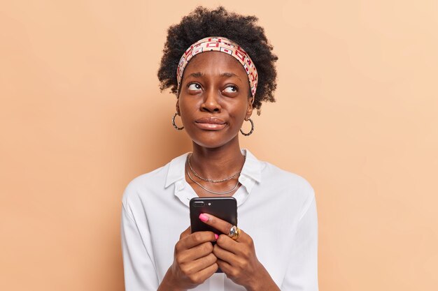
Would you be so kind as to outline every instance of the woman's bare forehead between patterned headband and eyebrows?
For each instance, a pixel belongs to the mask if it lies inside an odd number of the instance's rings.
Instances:
[[[239,61],[224,52],[202,52],[193,57],[185,67],[184,75],[198,72],[204,75],[234,73],[239,77],[248,78]]]

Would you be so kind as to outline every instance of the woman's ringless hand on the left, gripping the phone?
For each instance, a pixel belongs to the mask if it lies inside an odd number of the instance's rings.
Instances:
[[[174,263],[167,270],[160,288],[164,290],[188,290],[204,283],[218,269],[211,241],[216,241],[213,232],[190,233],[190,227],[181,233],[175,245]]]

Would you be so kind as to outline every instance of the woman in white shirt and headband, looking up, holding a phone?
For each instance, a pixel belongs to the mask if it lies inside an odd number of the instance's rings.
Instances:
[[[276,88],[277,58],[256,20],[198,7],[168,31],[158,76],[177,96],[172,123],[193,150],[127,186],[127,291],[318,290],[313,189],[239,147],[239,131],[253,132],[253,109]],[[202,214],[222,234],[192,234],[188,203],[198,196],[236,198],[241,229]]]

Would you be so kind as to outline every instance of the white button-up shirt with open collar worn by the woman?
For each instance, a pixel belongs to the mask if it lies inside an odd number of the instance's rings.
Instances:
[[[283,291],[318,290],[318,219],[313,189],[302,177],[258,161],[248,150],[237,200],[239,227],[253,238],[258,260]],[[126,291],[155,291],[174,261],[174,246],[190,225],[185,181],[188,154],[129,183],[122,198]],[[225,274],[193,289],[245,290]]]

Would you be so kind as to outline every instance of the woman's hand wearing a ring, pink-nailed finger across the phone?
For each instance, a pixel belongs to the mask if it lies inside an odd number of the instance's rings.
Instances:
[[[227,221],[204,214],[209,219],[204,223],[222,232],[213,248],[213,254],[222,271],[234,283],[242,285],[246,290],[279,290],[263,265],[257,260],[253,239],[241,230],[239,239],[228,237],[232,225]]]

